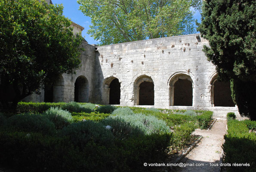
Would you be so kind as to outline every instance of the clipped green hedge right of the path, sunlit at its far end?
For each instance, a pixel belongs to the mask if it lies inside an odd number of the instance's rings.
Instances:
[[[228,171],[253,172],[256,170],[256,135],[249,132],[246,122],[228,120],[228,133],[222,145],[224,163],[244,163],[250,166],[230,166]]]

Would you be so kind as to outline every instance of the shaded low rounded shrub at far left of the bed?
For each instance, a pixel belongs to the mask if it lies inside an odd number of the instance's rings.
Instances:
[[[7,119],[6,127],[22,132],[39,132],[46,135],[56,133],[54,123],[46,117],[34,114],[18,114]]]

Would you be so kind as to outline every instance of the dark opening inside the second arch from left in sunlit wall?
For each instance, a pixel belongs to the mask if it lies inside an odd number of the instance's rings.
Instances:
[[[154,83],[145,81],[139,85],[139,105],[154,105]]]

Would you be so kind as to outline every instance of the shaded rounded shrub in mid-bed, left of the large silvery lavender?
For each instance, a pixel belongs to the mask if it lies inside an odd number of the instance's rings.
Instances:
[[[68,136],[71,142],[80,148],[89,141],[105,146],[113,144],[114,141],[114,136],[110,130],[91,120],[72,123],[62,129],[61,135]]]

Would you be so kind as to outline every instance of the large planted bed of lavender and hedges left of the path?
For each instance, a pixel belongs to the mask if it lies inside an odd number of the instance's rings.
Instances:
[[[0,162],[23,171],[145,171],[191,144],[210,111],[24,103],[0,114]]]

